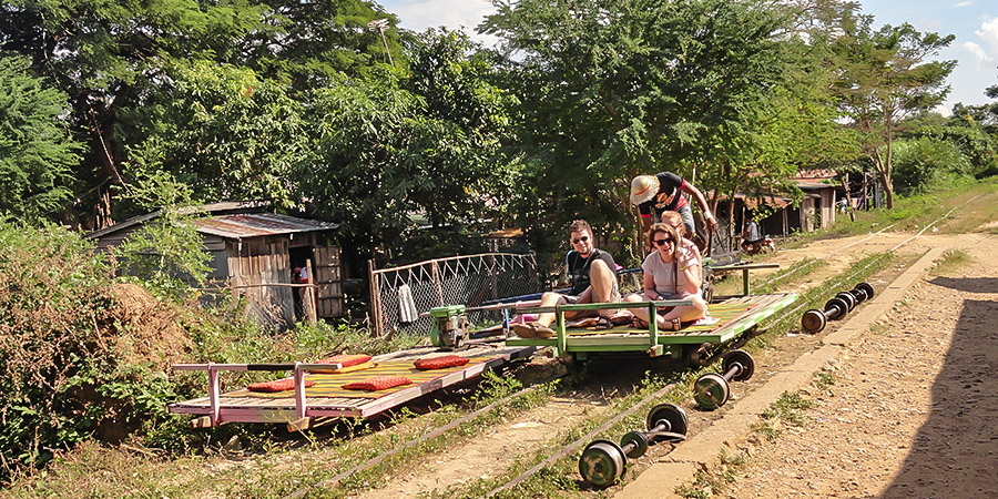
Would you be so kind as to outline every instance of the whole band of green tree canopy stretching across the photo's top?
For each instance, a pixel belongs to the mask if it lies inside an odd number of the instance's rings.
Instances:
[[[478,27],[493,50],[398,29],[368,0],[4,2],[0,210],[98,228],[169,179],[192,201],[338,222],[367,255],[419,225],[454,241],[518,225],[553,253],[572,218],[638,241],[642,173],[679,173],[716,205],[865,159],[890,204],[898,138],[931,139],[906,157],[958,151],[969,166],[951,171],[996,165],[994,105],[925,118],[953,37],[877,28],[855,2],[495,4]]]

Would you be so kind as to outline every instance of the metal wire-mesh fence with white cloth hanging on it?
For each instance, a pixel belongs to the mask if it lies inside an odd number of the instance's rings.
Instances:
[[[375,334],[429,334],[431,320],[420,314],[442,305],[473,307],[483,302],[538,293],[537,259],[530,254],[486,253],[430,259],[413,265],[375,269],[370,274]],[[501,312],[468,314],[472,324],[501,319]]]

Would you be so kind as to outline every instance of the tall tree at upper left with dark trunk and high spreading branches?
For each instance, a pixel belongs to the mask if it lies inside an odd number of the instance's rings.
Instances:
[[[142,114],[171,68],[248,65],[305,91],[369,65],[365,50],[384,49],[366,23],[390,18],[364,0],[14,0],[0,13],[0,49],[31,58],[70,98],[74,133],[89,146],[74,174],[91,206],[82,220],[90,228],[112,222],[111,185],[128,183],[128,149],[146,139],[130,118]],[[396,30],[385,35],[389,49],[398,47]]]

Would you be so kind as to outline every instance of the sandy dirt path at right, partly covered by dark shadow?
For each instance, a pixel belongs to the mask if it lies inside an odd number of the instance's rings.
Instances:
[[[924,237],[974,262],[916,284],[829,367],[809,425],[748,444],[733,498],[998,493],[998,237]]]

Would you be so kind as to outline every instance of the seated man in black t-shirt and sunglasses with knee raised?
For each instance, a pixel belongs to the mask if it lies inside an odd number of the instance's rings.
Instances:
[[[570,294],[548,292],[541,296],[542,307],[577,303],[618,303],[620,286],[617,283],[617,264],[609,253],[597,249],[592,227],[584,220],[569,225],[569,242],[572,251],[564,257],[568,275],[572,279]],[[599,316],[598,328],[611,327],[610,316],[617,310],[567,312],[566,318]],[[540,314],[536,322],[513,325],[517,336],[523,338],[550,338],[554,330],[549,326],[554,322],[553,313]]]

